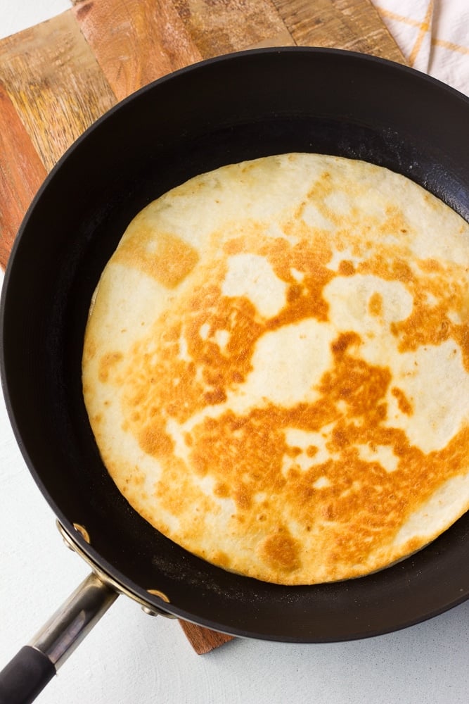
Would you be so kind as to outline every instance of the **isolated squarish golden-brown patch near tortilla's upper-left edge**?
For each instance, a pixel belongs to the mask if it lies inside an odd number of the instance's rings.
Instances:
[[[114,255],[117,263],[143,271],[167,289],[178,286],[191,273],[198,259],[198,252],[180,237],[169,232],[155,232],[138,218],[134,230]]]

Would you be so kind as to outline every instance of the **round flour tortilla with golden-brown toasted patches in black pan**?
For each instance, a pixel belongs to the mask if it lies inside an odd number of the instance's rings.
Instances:
[[[131,222],[83,390],[115,484],[188,551],[267,582],[380,570],[469,507],[469,226],[415,183],[293,153]]]

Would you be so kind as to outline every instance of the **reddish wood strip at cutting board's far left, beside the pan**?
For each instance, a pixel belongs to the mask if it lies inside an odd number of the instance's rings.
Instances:
[[[20,222],[46,169],[0,82],[0,266],[6,267]]]

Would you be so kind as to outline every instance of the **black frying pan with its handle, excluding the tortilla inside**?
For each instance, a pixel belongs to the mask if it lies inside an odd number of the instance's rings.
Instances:
[[[468,598],[469,515],[410,558],[348,582],[278,586],[187,553],[115,488],[89,427],[80,372],[98,277],[129,221],[168,189],[226,163],[330,153],[404,174],[469,220],[468,126],[465,96],[401,65],[334,49],[260,49],[148,85],[60,160],[6,271],[1,375],[32,477],[98,577],[5,668],[1,702],[31,701],[67,654],[57,645],[58,622],[68,628],[72,613],[79,630],[77,613],[84,613],[92,624],[116,591],[235,636],[303,643],[383,634]]]

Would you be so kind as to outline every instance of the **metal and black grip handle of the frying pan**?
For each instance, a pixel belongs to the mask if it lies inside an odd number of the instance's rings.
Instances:
[[[117,596],[96,574],[89,574],[0,672],[0,704],[34,701]]]

